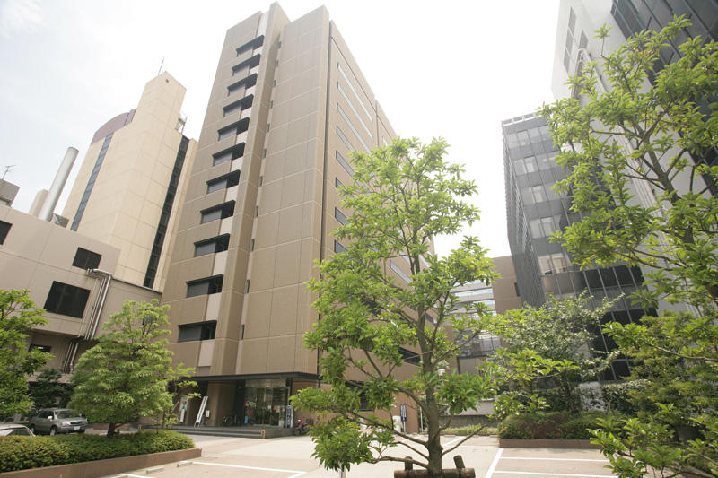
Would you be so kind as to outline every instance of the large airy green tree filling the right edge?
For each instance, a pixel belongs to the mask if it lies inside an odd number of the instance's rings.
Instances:
[[[641,363],[638,377],[651,390],[635,392],[645,413],[597,431],[621,476],[643,476],[648,466],[664,476],[718,474],[711,395],[718,381],[718,196],[711,194],[718,166],[708,166],[718,143],[718,45],[687,39],[678,61],[659,63],[661,48],[688,24],[676,18],[661,31],[636,34],[570,79],[576,98],[542,109],[563,145],[556,161],[568,169],[558,187],[582,215],[556,238],[582,265],[644,266],[648,287],[634,296],[644,305],[694,308],[604,326]],[[597,32],[607,35],[605,27]],[[678,423],[695,426],[698,438],[682,439]]]

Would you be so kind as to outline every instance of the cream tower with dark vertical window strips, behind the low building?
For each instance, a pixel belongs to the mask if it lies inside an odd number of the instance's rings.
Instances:
[[[95,132],[67,199],[70,229],[119,250],[116,276],[162,291],[197,143],[182,135],[185,88],[166,72],[136,109]]]

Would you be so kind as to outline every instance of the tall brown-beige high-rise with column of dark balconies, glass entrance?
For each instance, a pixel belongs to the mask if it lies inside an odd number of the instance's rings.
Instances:
[[[272,4],[227,31],[162,296],[207,424],[278,425],[288,395],[317,385],[304,282],[343,249],[331,232],[351,152],[393,136],[325,8],[290,22]],[[385,266],[407,277],[404,261]]]

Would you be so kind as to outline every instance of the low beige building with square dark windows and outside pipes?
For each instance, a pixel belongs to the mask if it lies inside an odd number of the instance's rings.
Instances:
[[[29,345],[53,354],[48,367],[72,371],[125,300],[160,299],[113,277],[119,256],[118,248],[0,205],[0,289],[29,289],[47,309],[48,323],[31,332]]]

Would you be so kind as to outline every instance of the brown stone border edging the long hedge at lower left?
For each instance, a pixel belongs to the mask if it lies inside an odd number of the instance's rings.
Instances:
[[[100,478],[109,474],[120,474],[148,468],[150,466],[165,465],[168,463],[198,458],[202,456],[202,448],[189,448],[187,450],[165,451],[147,455],[122,456],[106,460],[85,461],[70,465],[46,466],[44,468],[30,468],[14,472],[0,473],[0,478]]]

